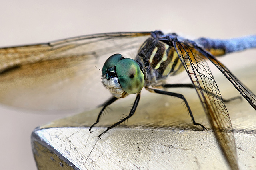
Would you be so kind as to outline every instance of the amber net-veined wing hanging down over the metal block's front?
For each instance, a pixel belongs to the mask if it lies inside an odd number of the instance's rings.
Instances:
[[[238,169],[235,139],[228,110],[204,55],[188,43],[174,42],[174,48],[196,88],[222,152],[231,168]]]

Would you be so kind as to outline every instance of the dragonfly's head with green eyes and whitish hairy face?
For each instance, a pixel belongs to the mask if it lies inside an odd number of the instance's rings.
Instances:
[[[144,74],[139,64],[133,59],[126,59],[121,54],[110,56],[102,68],[102,84],[116,98],[126,93],[135,94],[144,87]]]

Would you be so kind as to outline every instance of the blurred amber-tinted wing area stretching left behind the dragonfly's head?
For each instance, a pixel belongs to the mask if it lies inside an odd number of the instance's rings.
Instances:
[[[2,48],[0,102],[41,111],[94,108],[111,96],[99,70],[106,58],[114,53],[135,57],[149,35],[104,33]]]

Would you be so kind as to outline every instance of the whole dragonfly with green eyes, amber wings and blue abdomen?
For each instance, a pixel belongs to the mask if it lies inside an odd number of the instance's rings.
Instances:
[[[91,96],[86,93],[82,96],[81,92],[91,91],[97,101],[98,98],[106,101],[89,129],[92,132],[92,127],[99,122],[107,106],[129,94],[136,94],[129,115],[108,127],[100,137],[134,115],[144,87],[153,93],[182,99],[193,124],[205,129],[196,123],[186,98],[166,90],[173,87],[195,88],[229,166],[238,169],[228,110],[206,60],[211,61],[256,109],[255,94],[216,58],[255,47],[256,35],[192,41],[176,33],[164,34],[162,31],[102,33],[50,43],[5,47],[0,49],[0,102],[29,109],[74,111],[94,107],[90,103],[93,101]],[[102,73],[95,71],[93,65],[96,64],[103,66]],[[166,84],[167,78],[181,72],[188,73],[192,84]],[[101,79],[112,97],[101,98],[102,93],[96,94],[101,90],[93,88],[93,79]],[[80,88],[71,88],[71,85]],[[42,96],[47,96],[48,100],[42,100]],[[72,100],[75,102],[70,102]],[[79,104],[79,101],[82,102]]]

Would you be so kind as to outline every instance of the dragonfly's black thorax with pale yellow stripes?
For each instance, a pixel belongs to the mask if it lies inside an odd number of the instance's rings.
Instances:
[[[168,76],[184,70],[172,45],[160,40],[161,37],[148,38],[138,50],[135,60],[143,63],[145,87],[163,84]]]

